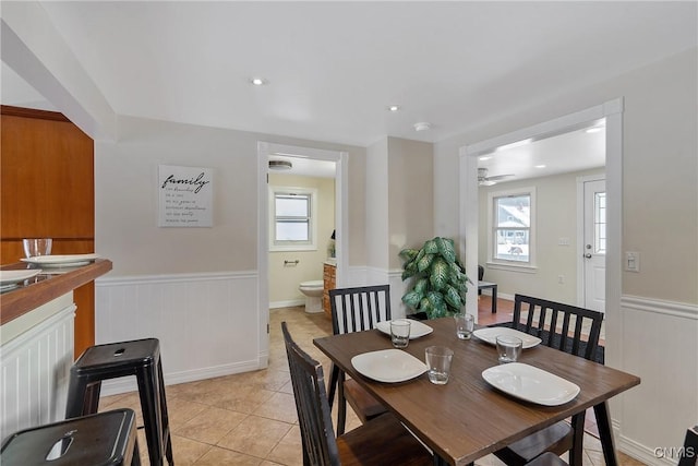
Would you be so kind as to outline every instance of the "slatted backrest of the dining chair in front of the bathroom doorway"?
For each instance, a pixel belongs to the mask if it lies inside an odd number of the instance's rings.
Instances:
[[[330,289],[329,308],[335,335],[371,330],[376,323],[392,319],[390,286]]]

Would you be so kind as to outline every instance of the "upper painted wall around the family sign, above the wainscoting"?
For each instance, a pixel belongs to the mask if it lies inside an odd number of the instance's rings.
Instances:
[[[256,270],[257,141],[347,151],[350,176],[354,159],[363,165],[357,147],[134,118],[119,126],[117,143],[95,143],[96,250],[113,261],[111,275]],[[212,228],[157,226],[159,164],[213,168]],[[362,212],[353,191],[349,208]]]

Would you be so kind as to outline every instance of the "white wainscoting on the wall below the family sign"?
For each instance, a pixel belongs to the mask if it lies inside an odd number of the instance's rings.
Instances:
[[[267,366],[267,316],[256,272],[103,277],[96,280],[96,344],[155,337],[166,384]],[[103,384],[136,390],[135,378]]]

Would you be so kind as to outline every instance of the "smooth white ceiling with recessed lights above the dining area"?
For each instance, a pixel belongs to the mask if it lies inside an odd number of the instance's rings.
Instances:
[[[437,142],[698,45],[696,1],[41,4],[119,115],[360,146]],[[3,104],[40,107],[8,73]]]

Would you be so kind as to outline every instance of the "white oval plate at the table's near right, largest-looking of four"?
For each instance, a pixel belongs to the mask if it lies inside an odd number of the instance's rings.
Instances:
[[[564,405],[579,394],[576,384],[521,362],[485,369],[482,378],[504,393],[544,406]]]

